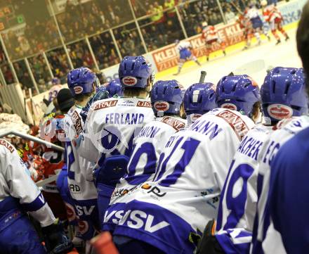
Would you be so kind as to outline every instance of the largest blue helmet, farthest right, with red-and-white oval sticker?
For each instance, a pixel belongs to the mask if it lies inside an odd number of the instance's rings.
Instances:
[[[308,95],[303,68],[270,70],[261,87],[261,98],[264,116],[271,122],[307,114]]]

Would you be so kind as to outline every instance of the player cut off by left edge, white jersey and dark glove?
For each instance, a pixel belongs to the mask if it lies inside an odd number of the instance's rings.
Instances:
[[[41,224],[48,251],[55,247],[70,250],[70,241],[58,227],[51,208],[29,177],[27,167],[15,148],[4,139],[0,139],[0,158],[1,253],[47,253],[27,212]]]

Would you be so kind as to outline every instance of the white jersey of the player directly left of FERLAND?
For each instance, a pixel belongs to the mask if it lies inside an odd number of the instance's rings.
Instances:
[[[67,152],[67,181],[71,196],[76,201],[96,199],[96,186],[89,181],[92,177],[93,163],[81,156],[77,145],[78,137],[84,129],[81,108],[73,106],[65,116],[65,136]]]

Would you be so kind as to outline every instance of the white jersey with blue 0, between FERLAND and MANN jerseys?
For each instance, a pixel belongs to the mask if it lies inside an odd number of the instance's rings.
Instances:
[[[105,211],[103,230],[114,230],[125,203],[133,199],[131,191],[146,181],[151,181],[169,138],[185,127],[186,120],[165,116],[145,125],[134,139],[134,150],[127,167],[126,176],[120,179]]]

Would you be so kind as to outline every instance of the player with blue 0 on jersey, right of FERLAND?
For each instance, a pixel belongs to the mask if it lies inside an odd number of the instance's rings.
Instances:
[[[126,175],[116,185],[112,197],[107,197],[106,205],[109,202],[110,205],[105,212],[103,230],[114,230],[125,203],[133,198],[131,191],[153,179],[164,144],[185,127],[186,121],[180,118],[183,87],[176,80],[156,82],[150,96],[156,119],[145,125],[133,141]]]

